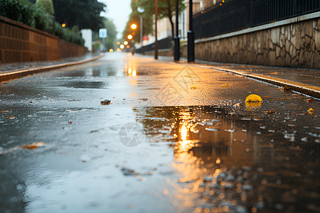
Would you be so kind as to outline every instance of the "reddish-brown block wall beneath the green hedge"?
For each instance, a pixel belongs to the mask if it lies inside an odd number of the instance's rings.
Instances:
[[[0,61],[58,60],[86,53],[86,48],[0,16]]]

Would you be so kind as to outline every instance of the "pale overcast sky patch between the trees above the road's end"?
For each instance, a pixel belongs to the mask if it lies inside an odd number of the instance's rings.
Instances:
[[[112,19],[114,25],[117,28],[117,37],[122,37],[122,31],[126,26],[126,23],[131,13],[131,0],[98,0],[107,5],[106,13],[102,13],[102,16]]]

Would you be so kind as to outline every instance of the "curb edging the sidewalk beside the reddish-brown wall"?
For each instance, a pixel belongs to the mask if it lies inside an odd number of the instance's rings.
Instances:
[[[41,72],[47,72],[50,70],[55,70],[55,69],[60,69],[63,67],[70,67],[70,66],[74,66],[74,65],[80,65],[86,62],[92,62],[94,60],[98,60],[100,58],[102,58],[104,55],[98,55],[95,58],[89,58],[89,59],[85,59],[85,60],[80,60],[80,61],[76,61],[76,62],[65,62],[62,64],[58,64],[58,65],[50,65],[50,66],[44,66],[44,67],[36,67],[36,68],[31,68],[31,69],[27,69],[27,70],[17,70],[17,71],[13,71],[13,72],[5,72],[3,74],[0,74],[0,82],[5,82],[8,80],[14,80],[17,78],[21,78],[21,77],[26,77],[27,75],[34,75],[37,73],[41,73]]]

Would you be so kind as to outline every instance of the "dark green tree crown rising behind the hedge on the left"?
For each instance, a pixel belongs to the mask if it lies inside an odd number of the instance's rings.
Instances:
[[[81,29],[97,29],[102,27],[103,18],[100,13],[106,5],[97,0],[53,0],[55,20],[66,23],[68,27],[78,26]]]

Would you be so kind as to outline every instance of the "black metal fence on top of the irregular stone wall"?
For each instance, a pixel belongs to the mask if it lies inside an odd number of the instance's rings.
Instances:
[[[206,38],[316,11],[320,0],[225,0],[193,14],[193,31]]]

